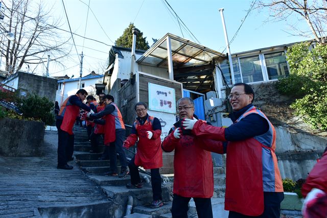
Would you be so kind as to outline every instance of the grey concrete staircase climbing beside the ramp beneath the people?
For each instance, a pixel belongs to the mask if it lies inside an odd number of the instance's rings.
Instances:
[[[75,126],[75,146],[74,155],[80,168],[85,172],[86,176],[94,181],[106,194],[106,196],[113,201],[113,208],[111,217],[153,217],[153,218],[168,218],[172,217],[170,209],[172,206],[172,187],[173,178],[165,178],[162,182],[162,201],[164,206],[159,208],[150,208],[152,202],[152,188],[151,183],[147,184],[143,181],[143,188],[128,189],[126,184],[130,183],[130,176],[126,178],[119,178],[118,176],[103,176],[102,174],[109,171],[109,160],[98,160],[101,154],[91,154],[90,142],[87,137],[86,130]],[[100,143],[102,150],[104,150],[103,142]],[[120,172],[120,162],[117,160],[118,171]],[[118,172],[118,173],[119,173]],[[140,173],[141,178],[149,175]],[[214,168],[214,196],[212,198],[212,206],[214,210],[214,217],[227,217],[224,208],[225,196],[225,175],[223,168]],[[127,197],[133,197],[132,214],[126,214]],[[225,213],[227,215],[225,215]],[[194,201],[190,202],[189,217],[197,217]]]

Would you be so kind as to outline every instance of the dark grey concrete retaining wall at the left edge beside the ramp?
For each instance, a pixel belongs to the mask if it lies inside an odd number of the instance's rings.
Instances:
[[[0,119],[0,126],[0,155],[6,157],[42,155],[44,123],[2,118]]]

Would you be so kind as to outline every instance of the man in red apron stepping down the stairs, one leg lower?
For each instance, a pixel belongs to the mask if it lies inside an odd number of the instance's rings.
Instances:
[[[124,148],[134,146],[137,138],[136,155],[129,161],[128,167],[131,176],[131,183],[127,188],[142,188],[141,178],[138,173],[138,166],[151,169],[151,185],[153,202],[150,207],[156,208],[164,205],[161,196],[161,177],[159,168],[162,167],[161,150],[161,124],[158,118],[149,116],[147,104],[138,102],[135,107],[137,118],[132,126],[130,135],[124,141]]]

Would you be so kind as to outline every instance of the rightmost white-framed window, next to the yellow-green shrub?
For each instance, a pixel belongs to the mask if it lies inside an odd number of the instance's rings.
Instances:
[[[290,74],[284,52],[270,53],[264,56],[269,80],[285,78]]]

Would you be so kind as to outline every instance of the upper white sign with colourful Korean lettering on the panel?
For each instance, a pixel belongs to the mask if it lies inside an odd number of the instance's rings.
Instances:
[[[149,110],[176,113],[175,89],[149,84]]]

